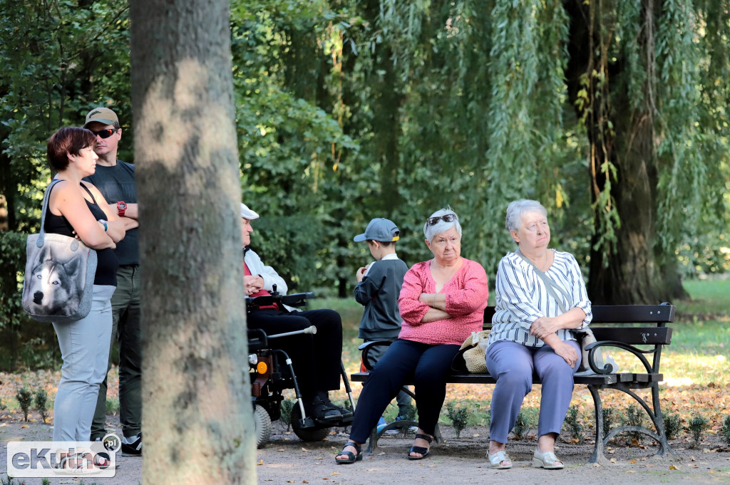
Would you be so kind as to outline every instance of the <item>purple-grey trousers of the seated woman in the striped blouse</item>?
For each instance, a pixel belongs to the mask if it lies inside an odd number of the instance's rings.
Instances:
[[[578,353],[576,341],[566,341]],[[487,368],[496,379],[492,393],[489,439],[507,443],[507,435],[515,426],[522,401],[532,390],[532,375],[537,373],[542,384],[537,437],[550,432],[560,434],[573,395],[575,368],[548,346],[527,347],[513,341],[499,341],[487,349]]]

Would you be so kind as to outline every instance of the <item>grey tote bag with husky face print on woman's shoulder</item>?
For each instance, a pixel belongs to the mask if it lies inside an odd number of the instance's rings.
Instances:
[[[39,322],[68,323],[91,311],[96,251],[77,238],[45,232],[50,189],[43,199],[41,230],[28,236],[23,309]]]

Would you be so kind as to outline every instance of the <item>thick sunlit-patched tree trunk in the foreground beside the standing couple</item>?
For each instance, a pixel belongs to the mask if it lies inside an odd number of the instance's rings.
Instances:
[[[145,484],[255,484],[227,0],[132,0]]]

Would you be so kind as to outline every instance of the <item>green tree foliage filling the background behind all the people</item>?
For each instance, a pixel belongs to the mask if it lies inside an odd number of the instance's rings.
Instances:
[[[632,138],[615,106],[640,112],[650,100],[646,166],[659,177],[648,244],[683,276],[728,271],[730,2],[655,3],[646,14],[633,0],[232,0],[241,187],[261,214],[253,247],[292,290],[347,297],[371,259],[352,238],[372,217],[399,225],[399,255],[413,264],[429,257],[423,221],[450,205],[462,254],[493,274],[512,249],[504,209],[526,197],[548,207],[553,246],[587,268],[591,244],[615,247],[612,189],[634,176],[621,171]],[[128,6],[0,7],[0,328],[18,329],[47,137],[110,106],[120,158],[134,162]],[[576,9],[591,15],[599,58],[580,79]],[[642,15],[654,20],[649,46]],[[600,177],[596,150],[620,154]]]

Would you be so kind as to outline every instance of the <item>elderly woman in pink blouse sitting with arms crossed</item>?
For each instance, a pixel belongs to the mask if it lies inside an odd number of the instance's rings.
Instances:
[[[423,233],[434,258],[413,265],[404,276],[398,299],[401,333],[364,384],[350,441],[335,457],[337,463],[362,459],[361,445],[407,381],[415,384],[418,407],[418,431],[407,458],[426,458],[451,360],[466,337],[482,329],[487,275],[482,265],[461,257],[458,217],[450,208],[434,212]]]

